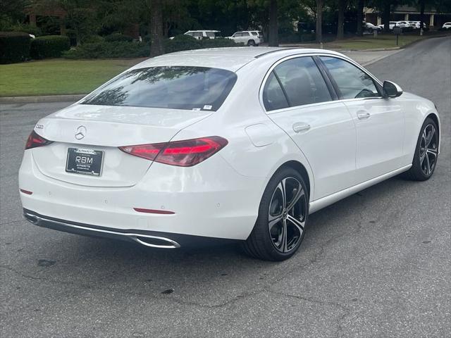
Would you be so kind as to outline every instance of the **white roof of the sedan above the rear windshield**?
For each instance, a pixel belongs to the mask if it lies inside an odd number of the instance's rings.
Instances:
[[[226,47],[211,49],[194,49],[190,51],[178,51],[170,54],[163,54],[154,58],[149,58],[142,63],[138,63],[132,69],[158,67],[158,66],[194,66],[221,68],[236,72],[243,65],[256,60],[257,58],[277,57],[283,58],[294,54],[335,54],[342,55],[335,51],[326,49],[307,48],[284,48],[284,47]]]

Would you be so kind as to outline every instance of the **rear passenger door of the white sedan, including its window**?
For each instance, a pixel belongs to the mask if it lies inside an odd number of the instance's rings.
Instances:
[[[261,100],[309,161],[312,199],[354,185],[356,131],[352,117],[311,56],[279,61],[267,75]],[[326,82],[329,84],[326,84]]]

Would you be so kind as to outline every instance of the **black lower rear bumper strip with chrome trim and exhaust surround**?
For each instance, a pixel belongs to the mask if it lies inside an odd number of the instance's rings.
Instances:
[[[230,239],[216,239],[211,237],[190,236],[186,234],[99,227],[96,225],[76,223],[45,215],[39,215],[39,213],[35,213],[34,211],[30,211],[25,208],[23,209],[23,215],[26,220],[39,227],[47,227],[52,230],[80,234],[89,237],[119,239],[159,249],[178,249],[180,246],[199,246],[205,244],[217,244],[218,242],[234,242],[234,240]]]

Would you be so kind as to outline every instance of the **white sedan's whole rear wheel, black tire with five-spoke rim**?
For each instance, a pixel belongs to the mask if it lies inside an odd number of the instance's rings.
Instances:
[[[280,194],[281,187],[285,187],[285,198]],[[293,201],[295,203],[292,203]],[[281,168],[266,186],[257,222],[247,240],[242,243],[242,248],[249,256],[264,261],[284,261],[299,249],[304,239],[308,217],[307,185],[297,170],[290,167]],[[269,218],[273,218],[271,228]]]

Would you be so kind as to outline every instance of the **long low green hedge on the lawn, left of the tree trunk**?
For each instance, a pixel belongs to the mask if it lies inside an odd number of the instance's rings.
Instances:
[[[64,58],[140,58],[149,56],[149,44],[140,42],[95,42],[63,53]]]

